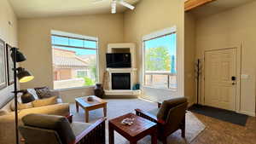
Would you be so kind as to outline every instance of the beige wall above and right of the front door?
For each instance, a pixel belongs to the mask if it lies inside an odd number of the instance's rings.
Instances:
[[[208,49],[241,48],[240,111],[255,114],[256,2],[196,21],[196,57]]]

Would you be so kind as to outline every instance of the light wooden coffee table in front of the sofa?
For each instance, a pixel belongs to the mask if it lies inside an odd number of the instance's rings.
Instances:
[[[89,122],[89,111],[98,108],[103,108],[104,117],[107,117],[107,101],[103,101],[101,98],[96,97],[95,95],[90,96],[93,97],[93,101],[87,101],[88,96],[79,97],[75,99],[77,112],[79,112],[79,106],[84,109],[85,123]]]

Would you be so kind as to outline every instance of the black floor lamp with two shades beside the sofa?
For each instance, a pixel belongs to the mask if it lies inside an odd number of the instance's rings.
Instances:
[[[11,49],[11,58],[14,62],[14,79],[15,79],[15,138],[16,138],[16,144],[20,143],[19,139],[19,130],[18,130],[18,89],[17,89],[17,78],[19,79],[20,83],[26,83],[31,81],[34,77],[30,72],[27,72],[25,68],[22,67],[16,67],[16,62],[22,62],[26,60],[26,57],[19,51],[17,48]]]

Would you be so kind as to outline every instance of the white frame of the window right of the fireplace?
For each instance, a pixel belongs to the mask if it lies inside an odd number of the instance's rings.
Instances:
[[[152,32],[148,35],[145,35],[143,36],[143,49],[142,49],[142,55],[143,55],[143,60],[142,60],[142,66],[143,66],[143,77],[142,77],[142,82],[143,82],[143,87],[145,88],[151,88],[151,89],[167,89],[167,88],[156,88],[156,87],[152,87],[152,86],[148,86],[148,85],[145,85],[145,41],[148,41],[150,39],[154,39],[154,38],[157,38],[157,37],[163,37],[165,35],[168,35],[168,34],[172,34],[172,33],[176,33],[177,34],[177,26],[173,26],[173,27],[169,27],[169,28],[166,28],[166,29],[163,29],[163,30],[160,30],[160,31],[157,31],[157,32]],[[176,38],[176,41],[177,41],[177,38]],[[178,67],[177,67],[177,60],[178,60],[178,56],[177,56],[177,48],[176,48],[176,72],[177,72],[177,75],[178,75]],[[177,76],[178,77],[178,76]],[[177,89],[178,89],[178,78],[177,78]],[[177,89],[167,89],[167,90],[171,90],[171,91],[174,91],[174,92],[177,92]]]

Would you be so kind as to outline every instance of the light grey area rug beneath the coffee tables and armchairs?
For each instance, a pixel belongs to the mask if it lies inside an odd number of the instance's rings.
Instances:
[[[157,107],[157,103],[152,101],[145,101],[142,99],[108,99],[108,119],[116,118],[121,115],[124,115],[128,112],[134,112],[135,108],[140,108],[144,111],[149,111]],[[71,104],[71,112],[73,113],[73,121],[84,122],[84,111],[80,108],[79,113],[75,110],[75,105]],[[98,118],[102,118],[103,110],[97,109],[95,111],[90,111],[90,123],[93,124]],[[106,126],[106,136],[108,144],[108,121]],[[186,139],[181,137],[181,130],[177,130],[175,133],[168,137],[168,144],[187,144],[195,139],[197,135],[205,129],[205,125],[195,117],[192,112],[187,112],[186,114]],[[114,134],[115,144],[129,144],[129,141],[118,133]],[[147,136],[141,141],[137,142],[138,144],[150,144],[151,137]],[[161,144],[160,141],[158,141]]]

